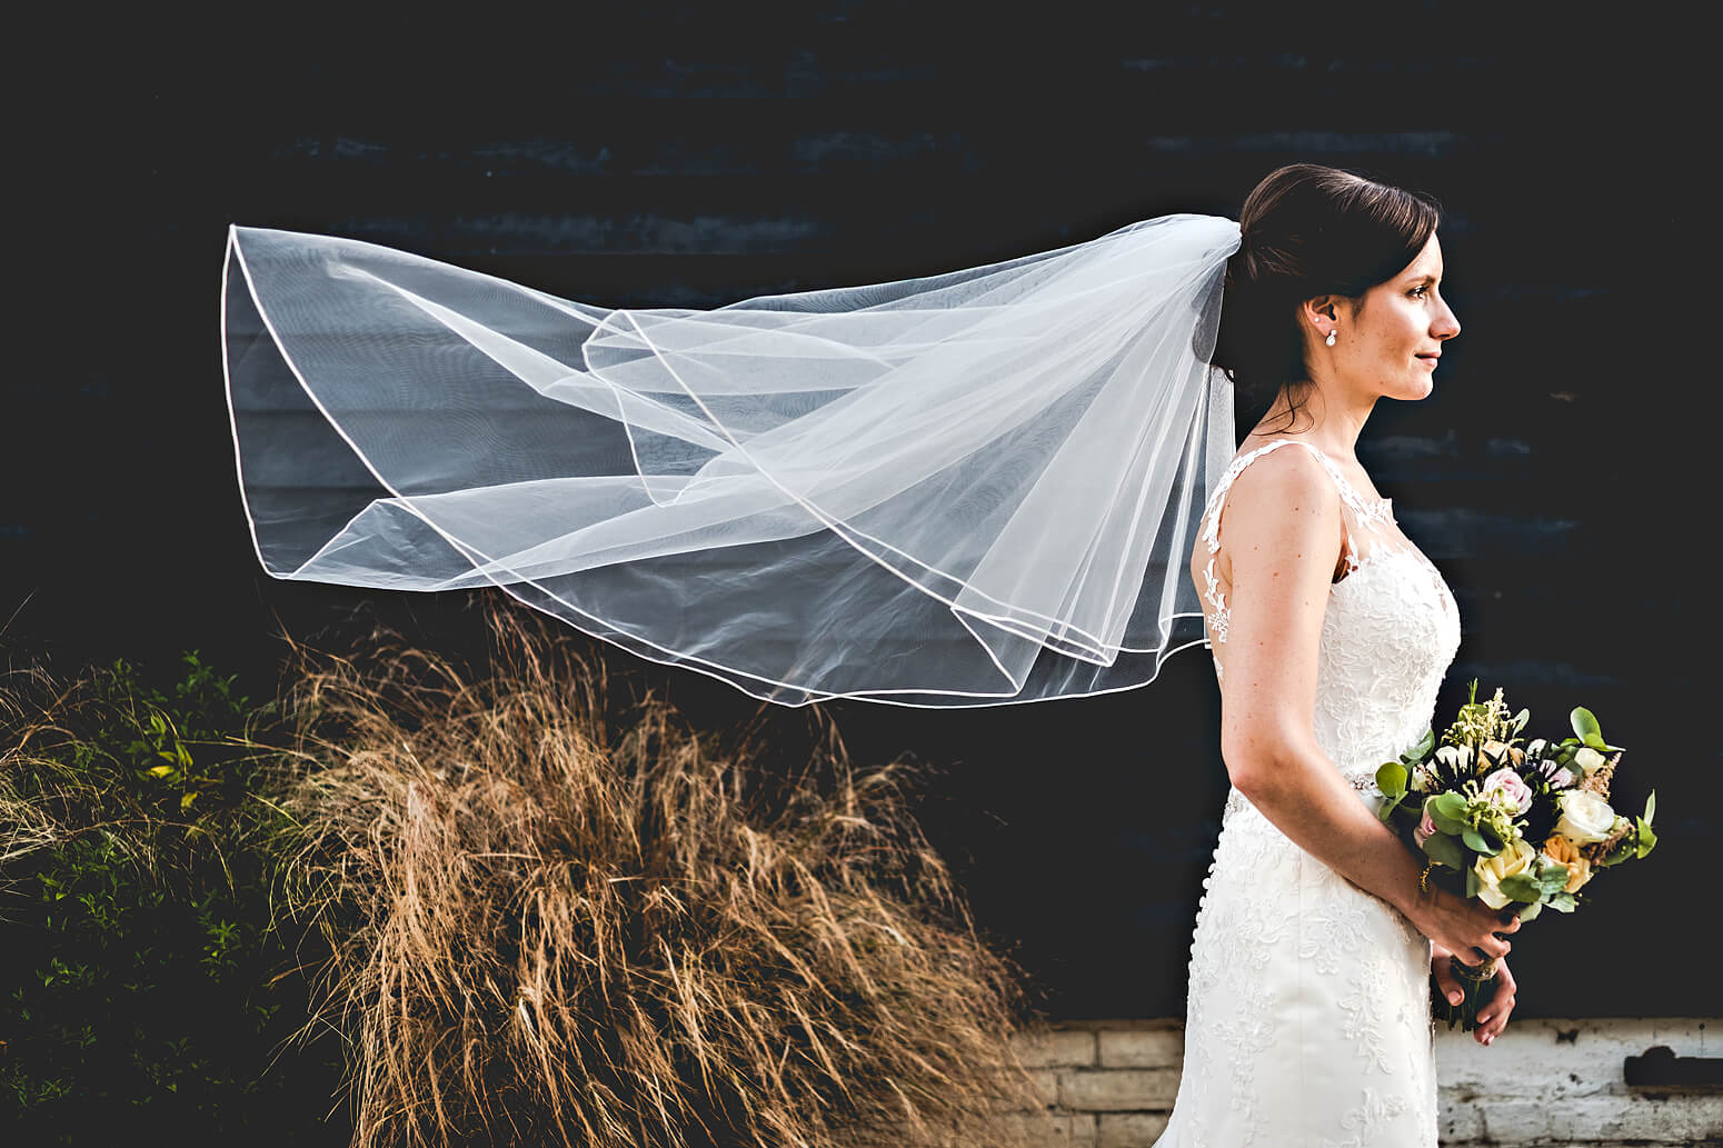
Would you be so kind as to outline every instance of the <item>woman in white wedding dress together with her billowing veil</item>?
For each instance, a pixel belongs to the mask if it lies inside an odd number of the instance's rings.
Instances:
[[[1372,810],[1459,643],[1354,459],[1459,333],[1437,212],[1296,164],[1241,215],[708,310],[233,228],[258,560],[495,584],[784,705],[1104,693],[1208,645],[1234,791],[1161,1143],[1432,1148],[1432,967],[1454,993],[1518,929],[1420,888]],[[1270,398],[1242,445],[1234,384]]]

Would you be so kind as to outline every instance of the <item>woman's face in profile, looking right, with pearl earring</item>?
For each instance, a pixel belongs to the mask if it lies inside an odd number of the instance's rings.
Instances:
[[[1354,314],[1340,309],[1334,346],[1315,352],[1335,377],[1370,396],[1423,398],[1435,386],[1442,345],[1459,334],[1459,321],[1440,293],[1442,245],[1435,233],[1404,271],[1365,291]],[[1347,319],[1351,319],[1347,322]]]

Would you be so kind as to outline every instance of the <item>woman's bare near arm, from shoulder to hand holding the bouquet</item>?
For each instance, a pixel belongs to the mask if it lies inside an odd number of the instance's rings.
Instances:
[[[1421,865],[1316,745],[1316,650],[1340,538],[1339,493],[1306,452],[1265,455],[1234,483],[1223,522],[1232,562],[1220,705],[1227,772],[1280,833],[1427,938],[1454,953],[1501,957],[1511,945],[1496,934],[1520,920],[1504,924],[1446,889],[1421,893]]]

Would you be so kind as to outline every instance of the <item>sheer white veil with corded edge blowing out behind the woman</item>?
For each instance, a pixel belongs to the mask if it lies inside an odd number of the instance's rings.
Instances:
[[[608,309],[233,228],[224,365],[264,569],[496,584],[782,705],[1127,689],[1203,640],[1239,224],[924,279]]]

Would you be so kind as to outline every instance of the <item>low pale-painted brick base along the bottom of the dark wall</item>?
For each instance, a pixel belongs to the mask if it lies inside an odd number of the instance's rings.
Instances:
[[[1723,1093],[1628,1088],[1627,1057],[1666,1045],[1723,1057],[1723,1019],[1515,1020],[1489,1048],[1435,1039],[1444,1148],[1723,1145]],[[1023,1034],[1018,1055],[1058,1148],[1149,1148],[1166,1127],[1184,1062],[1179,1020],[1087,1020]]]

